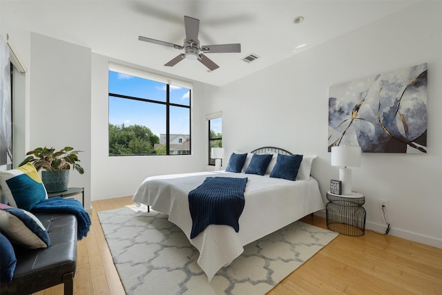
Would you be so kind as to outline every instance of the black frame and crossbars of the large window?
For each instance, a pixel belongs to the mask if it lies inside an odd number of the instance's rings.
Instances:
[[[115,73],[122,73],[122,72],[118,72],[117,70],[108,70],[108,73],[112,71]],[[125,73],[122,73],[125,74]],[[125,75],[131,75],[131,74],[125,74]],[[131,75],[133,77],[138,77],[136,75]],[[158,82],[155,79],[148,79],[146,77],[142,77],[142,79],[146,79],[146,80],[150,80],[150,81],[155,81]],[[189,106],[186,106],[184,104],[176,104],[173,102],[170,102],[170,87],[175,86],[173,84],[169,84],[166,82],[160,82],[160,83],[164,83],[166,85],[166,102],[160,102],[157,100],[153,100],[153,99],[146,99],[146,98],[142,98],[142,97],[133,97],[131,95],[121,95],[121,94],[117,94],[117,93],[111,93],[108,91],[108,97],[119,97],[119,98],[124,98],[124,99],[133,99],[133,100],[137,100],[139,102],[148,102],[148,103],[154,103],[154,104],[162,104],[166,106],[166,155],[191,155],[192,154],[192,122],[191,122],[191,97],[192,97],[192,89],[189,89]],[[189,153],[171,153],[170,150],[170,107],[171,106],[177,106],[180,108],[189,108]],[[118,157],[118,156],[140,156],[140,155],[164,155],[164,154],[156,154],[156,153],[149,153],[149,154],[127,154],[127,155],[110,155],[108,153],[108,156],[110,157]]]

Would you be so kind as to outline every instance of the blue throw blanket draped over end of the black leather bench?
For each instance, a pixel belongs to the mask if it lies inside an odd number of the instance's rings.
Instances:
[[[32,213],[71,213],[77,216],[77,240],[88,235],[90,229],[90,217],[81,203],[74,199],[54,197],[35,204]]]

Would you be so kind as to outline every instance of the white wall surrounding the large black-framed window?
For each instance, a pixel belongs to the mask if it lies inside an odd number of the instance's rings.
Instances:
[[[201,171],[204,167],[206,120],[202,113],[202,86],[193,82],[191,97],[191,155],[108,155],[108,62],[140,68],[93,54],[92,62],[92,200],[132,196],[152,175]],[[146,68],[140,68],[149,70]],[[150,70],[152,71],[152,70]],[[152,71],[153,72],[153,71]],[[153,72],[158,73],[158,72]]]

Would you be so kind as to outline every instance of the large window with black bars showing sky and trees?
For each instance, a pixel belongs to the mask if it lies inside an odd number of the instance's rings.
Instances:
[[[191,154],[189,86],[117,65],[108,78],[109,155]]]

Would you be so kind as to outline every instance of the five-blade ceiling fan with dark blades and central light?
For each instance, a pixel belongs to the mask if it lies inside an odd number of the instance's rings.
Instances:
[[[241,44],[218,44],[218,45],[204,45],[200,46],[200,40],[198,40],[198,31],[200,30],[200,20],[193,17],[184,16],[184,27],[186,29],[186,38],[184,39],[184,45],[172,44],[165,41],[155,40],[147,37],[139,36],[138,40],[146,41],[153,44],[160,44],[164,46],[173,47],[179,50],[184,49],[184,53],[173,58],[164,66],[175,66],[175,64],[182,61],[184,58],[198,59],[209,70],[216,70],[219,68],[209,57],[202,53],[240,53]]]

